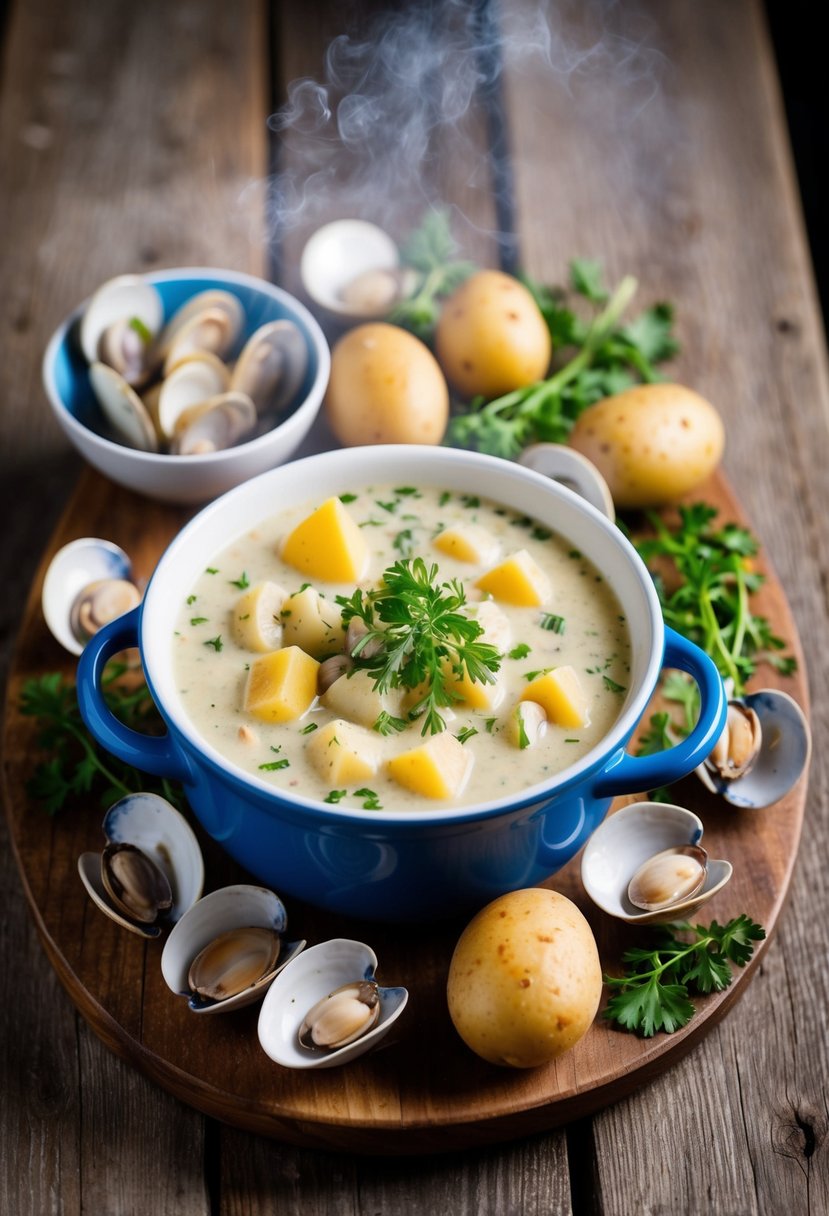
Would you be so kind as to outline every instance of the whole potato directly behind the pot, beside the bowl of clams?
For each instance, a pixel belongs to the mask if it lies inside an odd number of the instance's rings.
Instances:
[[[432,351],[406,330],[360,325],[334,345],[326,412],[340,443],[439,444],[449,389]]]

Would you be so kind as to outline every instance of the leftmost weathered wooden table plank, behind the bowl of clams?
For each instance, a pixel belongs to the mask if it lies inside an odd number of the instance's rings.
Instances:
[[[40,359],[55,325],[113,274],[204,264],[259,271],[264,6],[158,0],[12,5],[0,94],[0,548],[34,574],[79,462],[51,420]],[[0,604],[2,676],[21,599]],[[38,827],[33,823],[33,831]],[[0,1207],[198,1216],[204,1120],[79,1023],[34,938],[0,826]]]

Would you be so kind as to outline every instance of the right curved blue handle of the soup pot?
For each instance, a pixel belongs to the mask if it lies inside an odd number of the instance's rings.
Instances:
[[[665,751],[650,756],[631,756],[621,751],[597,779],[593,787],[597,798],[670,786],[700,765],[720,738],[728,702],[714,662],[699,646],[666,626],[662,666],[679,668],[694,677],[700,694],[699,720],[686,739]]]

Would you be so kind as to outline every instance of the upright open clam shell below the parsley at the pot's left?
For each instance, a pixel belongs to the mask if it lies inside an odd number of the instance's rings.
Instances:
[[[204,885],[202,850],[187,820],[164,798],[137,793],[119,799],[103,817],[103,834],[108,846],[140,849],[167,878],[173,903],[163,914],[164,924],[175,924],[193,907]],[[101,854],[81,854],[78,873],[90,899],[106,916],[139,936],[160,936],[159,921],[141,923],[112,900],[102,877]]]

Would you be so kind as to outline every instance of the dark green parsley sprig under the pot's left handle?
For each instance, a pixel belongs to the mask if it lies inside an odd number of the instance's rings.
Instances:
[[[107,665],[103,677],[107,704],[132,730],[157,733],[162,720],[150,689],[143,682],[136,687],[120,683],[126,671],[123,663]],[[36,744],[50,756],[38,764],[27,784],[27,793],[49,815],[61,811],[72,798],[92,795],[107,807],[141,789],[158,793],[182,809],[182,795],[169,781],[147,777],[101,750],[84,726],[74,686],[60,671],[27,680],[19,709],[27,717],[35,719]]]

